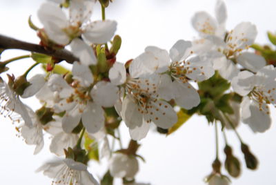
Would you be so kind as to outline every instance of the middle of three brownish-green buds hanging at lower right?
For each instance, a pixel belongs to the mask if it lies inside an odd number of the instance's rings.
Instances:
[[[229,175],[231,175],[232,177],[239,177],[241,173],[241,165],[239,163],[239,159],[232,155],[232,148],[228,145],[225,146],[224,153],[226,154],[224,166]]]

